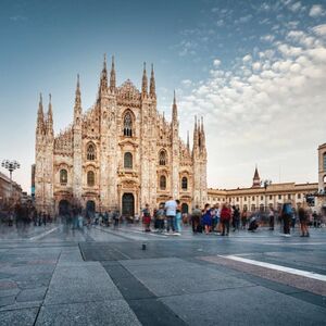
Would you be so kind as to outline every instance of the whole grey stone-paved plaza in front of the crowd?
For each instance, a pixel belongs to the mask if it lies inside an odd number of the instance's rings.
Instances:
[[[142,250],[142,246],[146,250]],[[325,325],[326,229],[0,227],[0,325]]]

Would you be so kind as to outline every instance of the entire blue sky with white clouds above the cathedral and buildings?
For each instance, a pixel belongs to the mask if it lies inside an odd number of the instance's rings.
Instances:
[[[0,47],[0,161],[21,163],[26,191],[39,92],[59,133],[77,74],[83,109],[95,103],[104,53],[118,85],[140,88],[142,62],[154,64],[158,110],[171,117],[175,89],[181,138],[203,116],[209,187],[250,187],[255,165],[273,183],[317,181],[325,0],[1,0]]]

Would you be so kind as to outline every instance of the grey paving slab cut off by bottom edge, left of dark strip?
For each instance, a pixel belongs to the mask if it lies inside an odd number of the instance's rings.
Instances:
[[[141,325],[124,300],[42,306],[36,326],[138,326]]]

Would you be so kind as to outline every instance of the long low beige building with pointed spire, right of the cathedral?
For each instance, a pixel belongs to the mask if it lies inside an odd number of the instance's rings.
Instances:
[[[300,205],[306,206],[306,195],[316,193],[318,190],[317,183],[279,183],[271,184],[265,188],[262,186],[258,168],[254,171],[252,180],[252,186],[248,188],[208,189],[209,203],[218,205],[230,203],[239,206],[240,210],[247,209],[250,212],[265,211],[269,206],[279,209],[285,202],[291,202],[292,206],[298,209]]]

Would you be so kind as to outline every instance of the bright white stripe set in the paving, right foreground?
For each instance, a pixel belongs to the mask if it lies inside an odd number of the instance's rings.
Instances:
[[[238,255],[233,255],[233,254],[229,254],[229,255],[220,255],[218,254],[217,256],[228,259],[228,260],[233,260],[233,261],[237,261],[237,262],[241,262],[241,263],[247,263],[247,264],[250,264],[250,265],[265,267],[265,268],[268,268],[268,269],[285,272],[285,273],[288,273],[288,274],[294,274],[294,275],[299,275],[299,276],[303,276],[303,277],[308,277],[308,278],[313,278],[313,279],[326,281],[326,275],[322,275],[322,274],[317,274],[317,273],[313,273],[313,272],[308,272],[308,271],[302,271],[302,269],[297,269],[297,268],[291,268],[291,267],[285,267],[285,266],[281,266],[281,265],[276,265],[276,264],[249,260],[249,259],[244,259],[244,258],[241,258],[241,256],[238,256]]]

